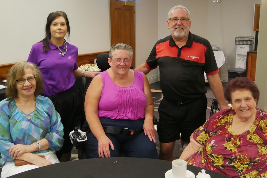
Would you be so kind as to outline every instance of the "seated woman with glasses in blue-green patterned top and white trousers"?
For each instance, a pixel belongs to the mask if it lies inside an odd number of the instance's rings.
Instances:
[[[51,100],[39,95],[42,89],[41,72],[33,63],[11,67],[7,98],[0,102],[1,178],[59,163],[55,152],[63,145],[63,125]],[[15,166],[15,159],[32,164]]]

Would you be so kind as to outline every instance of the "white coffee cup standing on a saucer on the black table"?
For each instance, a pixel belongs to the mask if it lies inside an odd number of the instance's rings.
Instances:
[[[172,178],[186,178],[186,161],[175,159],[172,162]]]

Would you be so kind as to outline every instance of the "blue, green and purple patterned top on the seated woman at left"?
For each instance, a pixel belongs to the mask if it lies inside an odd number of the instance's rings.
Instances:
[[[35,99],[36,111],[30,119],[21,113],[14,100],[6,98],[0,102],[1,166],[14,161],[9,150],[16,144],[30,145],[45,138],[49,142],[49,148],[40,153],[55,153],[61,149],[64,139],[59,113],[49,98],[39,95]],[[36,151],[33,152],[35,153]]]

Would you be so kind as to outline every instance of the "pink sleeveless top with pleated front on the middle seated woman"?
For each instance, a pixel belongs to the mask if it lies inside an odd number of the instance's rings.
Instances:
[[[134,71],[134,83],[128,87],[113,83],[107,71],[99,74],[103,88],[98,104],[98,117],[137,120],[144,118],[147,99],[144,94],[144,74]]]

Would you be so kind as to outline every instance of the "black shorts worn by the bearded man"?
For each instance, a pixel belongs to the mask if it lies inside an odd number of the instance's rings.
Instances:
[[[157,125],[159,141],[169,143],[179,139],[189,140],[194,130],[206,122],[206,110],[205,95],[182,105],[163,98],[159,106],[160,119]]]

